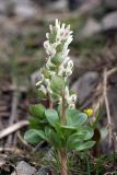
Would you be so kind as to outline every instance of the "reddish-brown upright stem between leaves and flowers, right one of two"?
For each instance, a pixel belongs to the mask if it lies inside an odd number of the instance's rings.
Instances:
[[[61,109],[61,122],[66,122],[66,101],[65,101],[65,89],[62,90],[62,109]]]

